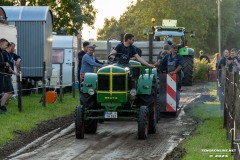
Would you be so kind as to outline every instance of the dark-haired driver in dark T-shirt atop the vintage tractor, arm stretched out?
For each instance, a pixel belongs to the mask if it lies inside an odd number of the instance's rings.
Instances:
[[[142,57],[138,55],[136,48],[133,46],[133,43],[134,43],[134,35],[130,33],[126,33],[124,35],[124,42],[119,43],[115,47],[115,49],[111,51],[109,56],[111,58],[124,56],[126,57],[125,63],[129,63],[130,58],[134,57],[137,61],[141,62],[142,64],[153,67],[153,65],[147,63]],[[116,55],[117,53],[122,53],[122,54]]]

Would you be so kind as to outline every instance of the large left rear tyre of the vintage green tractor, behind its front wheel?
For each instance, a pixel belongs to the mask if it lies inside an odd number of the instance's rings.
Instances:
[[[82,93],[80,97],[81,105],[84,106],[85,109],[97,109],[96,103],[96,95],[89,95],[88,93]],[[90,112],[87,114],[87,117],[97,117],[97,112]],[[89,119],[84,121],[84,129],[85,133],[94,134],[97,131],[97,123],[98,121],[95,119]]]

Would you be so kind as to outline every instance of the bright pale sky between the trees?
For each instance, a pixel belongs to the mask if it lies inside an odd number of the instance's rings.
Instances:
[[[84,40],[89,38],[96,39],[97,29],[102,28],[104,25],[104,19],[115,17],[117,20],[127,10],[127,7],[131,5],[131,2],[137,0],[95,0],[93,2],[94,8],[97,10],[96,21],[94,23],[94,29],[83,25],[82,37]]]

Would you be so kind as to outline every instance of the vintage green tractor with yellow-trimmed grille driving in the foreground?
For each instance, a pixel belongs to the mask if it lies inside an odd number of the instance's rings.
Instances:
[[[110,61],[112,59],[109,58]],[[156,132],[157,71],[137,61],[116,63],[86,73],[81,83],[81,105],[76,107],[75,134],[94,134],[99,120],[137,120],[138,138]]]

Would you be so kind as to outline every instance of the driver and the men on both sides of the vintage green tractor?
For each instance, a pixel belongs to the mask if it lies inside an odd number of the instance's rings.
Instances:
[[[170,73],[171,75],[177,75],[177,105],[180,100],[180,89],[181,89],[181,70],[183,67],[183,57],[178,54],[178,45],[173,43],[171,45],[165,44],[163,51],[159,53],[157,62],[149,64],[141,57],[141,50],[133,45],[134,35],[126,33],[124,35],[124,42],[119,43],[114,49],[112,49],[109,57],[115,58],[118,56],[125,56],[127,61],[137,60],[145,66],[157,67],[160,72]],[[87,72],[92,73],[94,67],[102,67],[107,64],[102,64],[97,61],[94,56],[94,46],[89,46],[89,42],[83,43],[83,50],[78,53],[78,80],[81,81],[81,75]],[[120,55],[117,53],[121,53]]]

